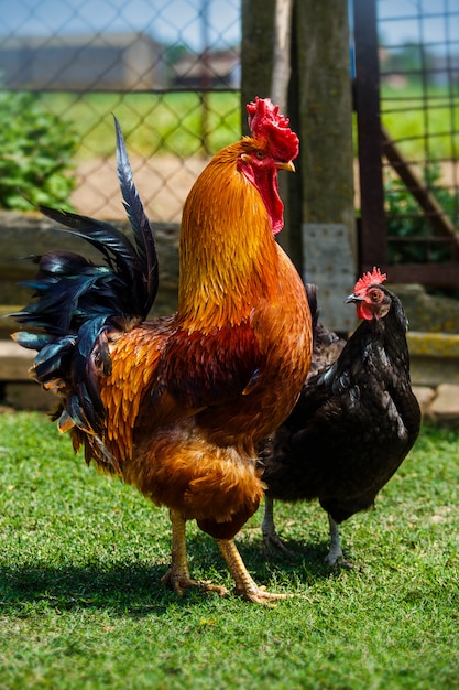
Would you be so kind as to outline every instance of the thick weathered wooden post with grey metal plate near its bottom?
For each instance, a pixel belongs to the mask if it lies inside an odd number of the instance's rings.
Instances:
[[[346,332],[354,325],[343,299],[357,266],[348,3],[296,2],[294,25],[304,279],[319,287],[326,325]]]

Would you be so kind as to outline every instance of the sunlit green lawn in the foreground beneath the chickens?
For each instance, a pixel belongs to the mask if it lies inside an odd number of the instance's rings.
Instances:
[[[0,684],[6,690],[459,688],[459,430],[423,428],[376,510],[342,526],[359,565],[323,562],[317,505],[277,504],[293,557],[238,542],[274,607],[161,584],[166,511],[75,457],[41,414],[0,416]],[[231,586],[189,526],[192,572]]]

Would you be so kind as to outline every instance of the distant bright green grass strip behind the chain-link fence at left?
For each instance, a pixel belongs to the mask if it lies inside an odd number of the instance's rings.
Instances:
[[[74,122],[80,134],[77,160],[113,155],[113,119],[119,119],[130,154],[181,158],[203,150],[203,101],[198,93],[45,94],[46,107]],[[241,132],[238,93],[212,93],[208,109],[207,145],[216,153]]]

